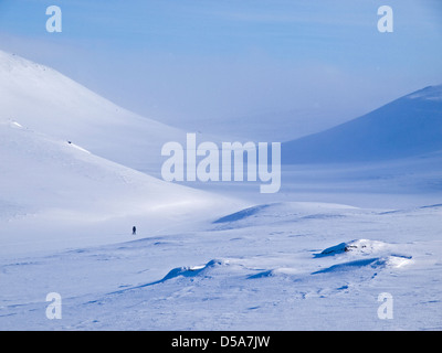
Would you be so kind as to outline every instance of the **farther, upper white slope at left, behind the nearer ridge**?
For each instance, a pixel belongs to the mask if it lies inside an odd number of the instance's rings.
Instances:
[[[60,74],[0,51],[0,119],[148,172],[159,172],[161,147],[186,133],[140,117]]]

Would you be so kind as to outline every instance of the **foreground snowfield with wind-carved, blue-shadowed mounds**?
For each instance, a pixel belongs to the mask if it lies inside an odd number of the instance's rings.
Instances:
[[[1,328],[442,329],[441,205],[397,212],[323,205],[320,213],[285,206],[290,212],[281,216],[278,205],[269,225],[239,220],[3,258]],[[61,320],[45,317],[52,291],[63,298]],[[382,292],[394,300],[392,320],[378,318]]]

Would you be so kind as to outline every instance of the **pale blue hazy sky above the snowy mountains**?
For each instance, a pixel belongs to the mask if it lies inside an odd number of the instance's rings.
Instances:
[[[441,84],[442,1],[0,0],[0,50],[158,120],[282,138]]]

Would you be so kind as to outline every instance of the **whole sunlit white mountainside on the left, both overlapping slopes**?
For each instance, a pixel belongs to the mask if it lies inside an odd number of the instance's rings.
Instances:
[[[133,225],[152,236],[230,211],[232,199],[136,170],[157,165],[164,141],[182,136],[0,52],[2,250],[122,240]]]

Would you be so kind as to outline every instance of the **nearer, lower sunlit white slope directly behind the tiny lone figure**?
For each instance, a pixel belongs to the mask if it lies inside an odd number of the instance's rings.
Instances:
[[[167,183],[86,149],[0,120],[1,254],[107,244],[131,226],[160,229],[214,217],[234,201]]]

